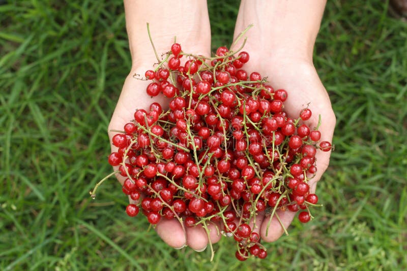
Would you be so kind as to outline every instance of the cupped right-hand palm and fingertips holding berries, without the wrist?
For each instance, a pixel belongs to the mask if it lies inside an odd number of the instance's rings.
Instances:
[[[332,142],[336,118],[331,107],[327,90],[318,77],[311,61],[303,57],[264,57],[264,52],[250,49],[250,46],[244,50],[250,53],[250,60],[245,65],[247,72],[258,72],[263,77],[268,77],[270,85],[277,89],[287,91],[287,99],[284,102],[284,111],[288,117],[297,119],[302,109],[309,108],[312,116],[309,120],[303,121],[312,130],[318,125],[319,115],[321,115],[321,125],[318,130],[321,132],[321,142]],[[270,52],[273,54],[273,52]],[[315,155],[315,164],[317,172],[309,180],[310,193],[315,192],[316,183],[321,179],[327,170],[331,152],[317,150]],[[274,216],[270,223],[270,216],[259,214],[256,218],[256,225],[259,225],[255,231],[260,232],[261,239],[266,242],[274,242],[280,238],[284,228],[293,221],[296,213],[291,211],[277,211],[280,223]],[[282,225],[283,226],[282,226]]]

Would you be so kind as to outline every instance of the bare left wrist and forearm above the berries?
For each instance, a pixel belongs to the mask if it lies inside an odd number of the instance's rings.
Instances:
[[[125,0],[124,4],[133,66],[150,66],[157,62],[147,22],[159,57],[169,51],[175,37],[186,51],[210,53],[211,29],[206,1]]]

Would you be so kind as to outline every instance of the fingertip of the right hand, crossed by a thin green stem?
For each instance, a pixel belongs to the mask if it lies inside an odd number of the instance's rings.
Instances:
[[[279,239],[280,236],[284,233],[284,229],[278,221],[276,215],[278,215],[278,217],[280,218],[284,228],[287,229],[293,221],[296,213],[291,211],[276,211],[276,214],[271,219],[271,222],[270,216],[266,216],[260,228],[260,237],[266,242],[274,242]]]

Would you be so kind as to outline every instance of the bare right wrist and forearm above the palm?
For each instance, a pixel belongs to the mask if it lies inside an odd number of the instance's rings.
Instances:
[[[270,59],[292,57],[312,63],[313,47],[325,8],[325,1],[242,0],[235,37],[249,24],[247,48]]]

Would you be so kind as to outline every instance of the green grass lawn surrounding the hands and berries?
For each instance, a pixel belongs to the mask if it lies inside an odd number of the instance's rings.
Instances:
[[[324,207],[268,260],[234,242],[170,249],[124,213],[107,124],[130,69],[121,1],[0,5],[1,270],[401,270],[407,268],[407,23],[380,0],[329,1],[315,66],[337,116]],[[238,4],[209,1],[213,48],[231,42]],[[271,20],[272,21],[272,20]]]

